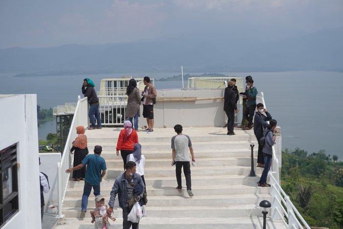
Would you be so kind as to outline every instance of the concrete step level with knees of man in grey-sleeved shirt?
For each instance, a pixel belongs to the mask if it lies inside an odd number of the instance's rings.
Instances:
[[[106,178],[117,178],[122,174],[123,168],[118,168],[119,170],[108,169],[106,171]],[[191,167],[191,176],[211,176],[220,173],[222,176],[229,175],[249,175],[251,169],[246,166],[201,166]],[[262,174],[263,168],[257,168],[255,172]],[[159,167],[159,168],[146,168],[144,169],[145,177],[155,177],[156,175],[160,177],[169,177],[175,174],[175,166],[169,167]]]

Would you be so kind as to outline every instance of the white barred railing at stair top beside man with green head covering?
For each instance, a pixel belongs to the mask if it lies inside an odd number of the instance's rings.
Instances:
[[[127,95],[98,96],[102,126],[122,126],[125,120]]]

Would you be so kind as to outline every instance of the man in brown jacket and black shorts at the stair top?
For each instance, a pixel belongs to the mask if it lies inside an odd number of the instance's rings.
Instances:
[[[146,118],[148,128],[145,130],[147,133],[154,131],[154,101],[156,101],[157,92],[154,85],[150,84],[150,78],[145,76],[143,79],[145,88],[142,91],[143,100],[143,117]]]

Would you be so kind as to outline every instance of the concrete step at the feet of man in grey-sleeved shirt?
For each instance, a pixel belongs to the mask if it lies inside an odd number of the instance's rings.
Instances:
[[[76,182],[76,181],[72,181]],[[183,183],[186,181],[183,180]],[[74,188],[69,188],[66,191],[67,197],[78,197],[81,198],[83,193],[83,183],[82,185],[74,186]],[[103,195],[109,195],[112,191],[113,183],[108,185],[101,184],[101,193]],[[237,195],[237,194],[268,194],[268,188],[260,188],[257,186],[248,186],[243,184],[217,184],[217,185],[206,185],[198,186],[192,185],[192,192],[201,194],[201,195]],[[146,192],[148,197],[150,196],[183,196],[187,195],[186,190],[183,189],[182,193],[179,193],[175,187],[162,187],[162,188],[153,188],[152,186],[146,187]]]

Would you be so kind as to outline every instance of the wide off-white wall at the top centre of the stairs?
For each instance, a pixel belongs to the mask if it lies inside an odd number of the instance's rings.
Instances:
[[[157,90],[158,97],[197,97],[213,98],[223,97],[224,90]],[[222,127],[225,125],[224,99],[198,100],[198,101],[166,101],[154,105],[154,127],[171,128],[175,124],[183,127]],[[141,117],[139,127],[147,126]]]

